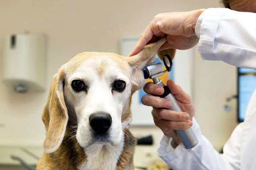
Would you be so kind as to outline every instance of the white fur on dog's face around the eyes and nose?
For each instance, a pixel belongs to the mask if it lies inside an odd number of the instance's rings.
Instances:
[[[106,61],[107,60],[107,61]],[[99,63],[104,65],[99,75]],[[131,95],[131,82],[129,71],[119,68],[119,63],[102,56],[101,59],[89,59],[81,63],[80,67],[67,79],[68,91],[73,97],[69,97],[78,120],[77,141],[81,147],[89,147],[92,144],[107,144],[115,146],[123,139],[121,116],[124,108],[129,108],[128,99]],[[76,92],[71,87],[71,82],[79,79],[88,86],[87,92]],[[122,92],[112,91],[111,85],[116,79],[126,82],[125,90]],[[112,125],[109,128],[109,141],[93,141],[93,129],[90,127],[89,117],[96,112],[109,113]],[[127,124],[126,120],[125,124]]]

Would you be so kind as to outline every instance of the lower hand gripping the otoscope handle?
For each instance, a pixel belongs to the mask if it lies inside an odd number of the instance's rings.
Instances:
[[[178,145],[180,140],[174,130],[185,130],[192,126],[191,119],[195,114],[195,108],[190,96],[186,94],[179,85],[176,85],[172,80],[168,80],[167,86],[175,96],[183,112],[168,110],[172,105],[169,99],[152,96],[161,95],[164,92],[163,87],[152,82],[148,82],[144,86],[144,91],[148,94],[142,97],[142,103],[143,105],[153,107],[152,116],[155,125],[157,125],[166,136],[173,138],[175,144]]]

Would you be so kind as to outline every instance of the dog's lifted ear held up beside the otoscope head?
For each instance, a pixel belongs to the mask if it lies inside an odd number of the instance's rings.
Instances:
[[[132,92],[139,90],[142,88],[144,84],[144,75],[142,69],[154,62],[154,59],[157,55],[158,49],[166,42],[165,38],[161,40],[146,45],[140,53],[133,57],[127,57],[127,61],[131,66],[131,83],[132,83]],[[175,49],[168,49],[158,52],[158,56],[161,60],[163,60],[163,55],[169,54],[169,56],[173,59],[175,55]]]

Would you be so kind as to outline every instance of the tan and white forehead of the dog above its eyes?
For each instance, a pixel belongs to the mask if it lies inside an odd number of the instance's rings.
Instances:
[[[99,77],[102,74],[117,74],[122,72],[129,76],[129,64],[124,56],[114,53],[100,53],[100,52],[84,52],[76,55],[65,65],[66,75],[69,76],[75,72],[96,72]]]

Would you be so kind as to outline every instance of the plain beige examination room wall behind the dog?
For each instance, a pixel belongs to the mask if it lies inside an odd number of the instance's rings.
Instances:
[[[16,94],[3,84],[0,74],[0,145],[42,145],[45,129],[41,113],[52,76],[76,54],[83,51],[119,53],[119,40],[139,37],[158,13],[220,6],[218,0],[2,0],[0,69],[3,68],[4,37],[26,31],[44,33],[47,35],[47,81],[44,92]],[[196,119],[203,134],[219,149],[236,126],[235,102],[231,102],[230,112],[223,108],[225,99],[236,93],[236,68],[222,62],[203,61],[196,48],[191,57]],[[136,126],[131,130],[137,136],[152,134],[157,148],[162,136],[157,127]]]

